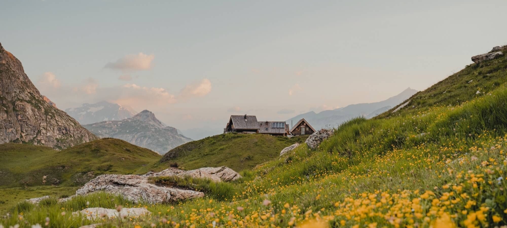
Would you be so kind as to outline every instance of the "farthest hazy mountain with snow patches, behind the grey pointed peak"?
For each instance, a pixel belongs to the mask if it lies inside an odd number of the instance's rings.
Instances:
[[[100,101],[94,104],[85,103],[81,107],[67,108],[65,112],[80,124],[124,120],[135,116],[137,113],[130,107],[124,107],[107,101]]]

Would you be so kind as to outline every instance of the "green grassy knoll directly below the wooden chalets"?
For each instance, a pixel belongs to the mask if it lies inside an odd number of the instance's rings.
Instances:
[[[308,136],[275,137],[261,134],[222,134],[188,142],[169,150],[154,170],[178,164],[180,168],[227,166],[235,171],[252,169],[256,165],[280,156],[280,151]]]

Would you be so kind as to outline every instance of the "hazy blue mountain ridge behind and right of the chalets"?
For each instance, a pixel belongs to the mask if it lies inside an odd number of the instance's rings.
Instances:
[[[417,90],[413,90],[408,88],[401,92],[400,94],[391,97],[384,101],[374,102],[374,103],[361,103],[361,104],[351,104],[342,108],[337,108],[334,110],[325,110],[319,113],[315,113],[314,111],[310,111],[307,113],[303,113],[294,118],[287,120],[287,123],[297,123],[301,119],[307,120],[310,125],[315,129],[321,128],[331,128],[337,127],[341,123],[348,121],[355,117],[368,117],[372,118],[380,113],[388,110],[412,95],[417,93]]]

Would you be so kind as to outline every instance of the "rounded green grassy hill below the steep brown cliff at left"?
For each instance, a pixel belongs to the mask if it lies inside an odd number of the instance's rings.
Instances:
[[[160,159],[157,153],[105,138],[61,151],[19,143],[0,144],[0,187],[79,186],[103,173],[136,173]]]

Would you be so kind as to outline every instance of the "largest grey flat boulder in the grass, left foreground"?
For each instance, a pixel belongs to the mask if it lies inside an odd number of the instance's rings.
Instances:
[[[201,192],[157,186],[149,183],[146,176],[117,174],[103,174],[95,177],[79,188],[76,195],[100,191],[118,194],[133,202],[143,200],[149,203],[167,203],[204,196]]]

